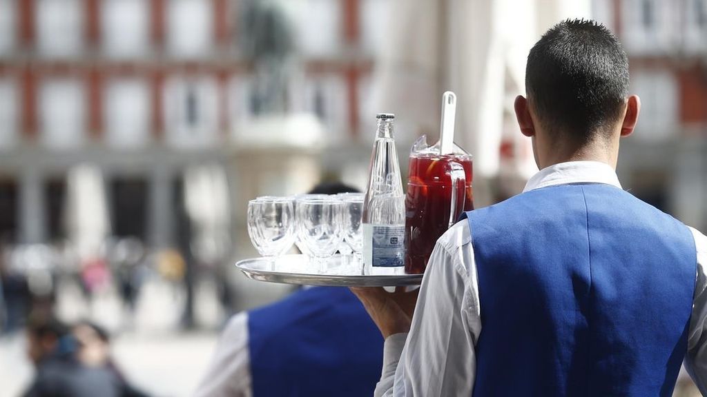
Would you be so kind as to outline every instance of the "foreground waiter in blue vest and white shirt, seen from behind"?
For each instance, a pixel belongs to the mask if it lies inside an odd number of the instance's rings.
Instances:
[[[707,237],[619,184],[641,105],[620,43],[559,23],[525,85],[523,193],[440,237],[419,297],[354,289],[385,337],[375,396],[671,396],[683,361],[706,394]]]

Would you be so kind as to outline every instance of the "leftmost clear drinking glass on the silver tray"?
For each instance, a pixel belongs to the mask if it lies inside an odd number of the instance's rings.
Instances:
[[[248,202],[248,235],[262,256],[274,259],[290,249],[294,225],[292,198],[263,196]]]

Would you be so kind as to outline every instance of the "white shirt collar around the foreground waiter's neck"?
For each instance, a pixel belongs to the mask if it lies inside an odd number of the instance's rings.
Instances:
[[[545,167],[525,184],[523,192],[559,184],[608,184],[621,189],[616,171],[598,161],[571,161]]]

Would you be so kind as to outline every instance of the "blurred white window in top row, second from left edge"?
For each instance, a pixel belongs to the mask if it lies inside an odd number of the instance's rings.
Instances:
[[[72,57],[83,46],[83,1],[37,1],[37,47],[46,57]]]

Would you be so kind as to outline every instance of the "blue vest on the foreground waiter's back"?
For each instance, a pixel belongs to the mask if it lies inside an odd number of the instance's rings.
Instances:
[[[466,216],[481,307],[474,396],[672,396],[696,277],[685,225],[604,184]]]

